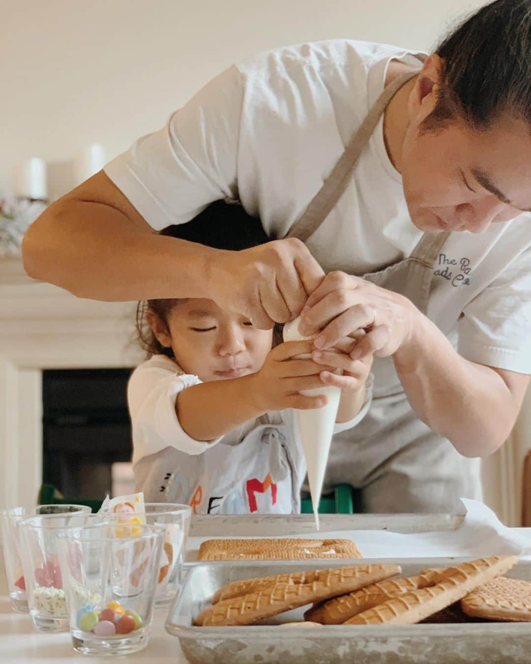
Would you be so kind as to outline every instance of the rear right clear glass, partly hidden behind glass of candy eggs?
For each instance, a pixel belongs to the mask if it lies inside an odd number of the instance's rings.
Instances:
[[[111,519],[119,524],[123,515],[105,509]],[[143,513],[135,513],[144,523],[163,525],[165,528],[161,566],[155,592],[155,611],[166,611],[179,590],[183,573],[183,562],[190,530],[190,505],[181,503],[145,503]]]

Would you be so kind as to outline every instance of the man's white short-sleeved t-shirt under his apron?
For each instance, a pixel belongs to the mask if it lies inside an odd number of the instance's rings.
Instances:
[[[138,139],[105,172],[155,229],[240,199],[271,238],[285,236],[384,88],[415,52],[337,39],[286,46],[231,66]],[[383,120],[344,195],[307,246],[325,272],[376,272],[411,254],[402,177]],[[482,234],[454,233],[433,267],[427,315],[467,359],[531,373],[531,215]]]

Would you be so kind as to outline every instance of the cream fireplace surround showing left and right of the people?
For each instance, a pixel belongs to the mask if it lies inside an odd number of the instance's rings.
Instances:
[[[33,505],[42,479],[42,369],[134,367],[135,303],[99,302],[29,278],[0,260],[0,507]],[[485,502],[520,525],[522,450],[483,462]]]

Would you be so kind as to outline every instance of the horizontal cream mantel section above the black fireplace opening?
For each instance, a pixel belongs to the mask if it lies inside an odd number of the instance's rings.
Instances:
[[[1,353],[22,369],[131,367],[133,302],[80,299],[0,260]]]

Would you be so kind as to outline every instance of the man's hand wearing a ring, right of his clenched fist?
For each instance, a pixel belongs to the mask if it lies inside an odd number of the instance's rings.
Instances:
[[[301,332],[322,330],[315,339],[319,349],[334,346],[342,337],[358,337],[352,359],[370,353],[388,357],[408,341],[418,315],[403,295],[344,272],[330,272],[307,299]]]

